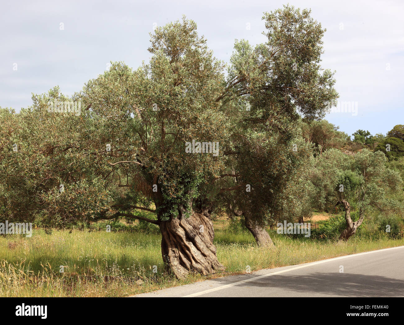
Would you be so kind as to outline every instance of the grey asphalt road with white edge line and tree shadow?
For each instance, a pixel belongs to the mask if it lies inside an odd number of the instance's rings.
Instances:
[[[404,297],[404,246],[226,276],[133,297]]]

